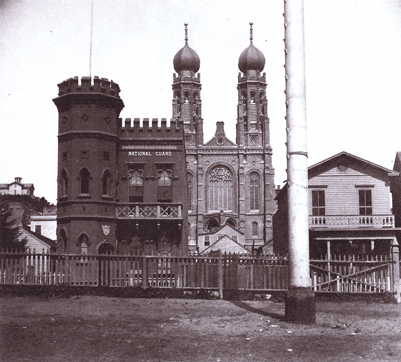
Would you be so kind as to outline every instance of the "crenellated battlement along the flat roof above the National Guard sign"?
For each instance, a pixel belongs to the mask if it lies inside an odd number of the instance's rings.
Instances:
[[[118,118],[118,122],[123,124],[123,119]],[[141,127],[139,118],[134,118],[133,122],[131,118],[126,118],[124,126],[120,128],[120,137],[146,137],[146,134],[156,134],[157,137],[177,137],[177,133],[182,132],[182,125],[181,120],[177,122],[175,119],[171,119],[168,127],[167,119],[162,118],[161,126],[159,127],[157,118],[153,118],[150,122],[149,118],[144,118]]]

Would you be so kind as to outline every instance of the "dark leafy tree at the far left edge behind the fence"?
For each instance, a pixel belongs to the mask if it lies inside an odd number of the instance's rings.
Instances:
[[[25,250],[26,240],[18,240],[19,228],[14,224],[15,219],[11,218],[12,212],[6,202],[0,203],[0,251]]]

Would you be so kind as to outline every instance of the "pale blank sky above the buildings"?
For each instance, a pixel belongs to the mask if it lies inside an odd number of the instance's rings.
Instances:
[[[286,175],[282,0],[93,0],[91,75],[121,88],[124,118],[172,115],[173,58],[201,59],[204,140],[235,142],[238,57],[266,58],[275,184]],[[305,0],[309,165],[347,151],[392,168],[401,151],[401,2]],[[56,203],[57,84],[89,75],[91,0],[0,0],[0,183]]]

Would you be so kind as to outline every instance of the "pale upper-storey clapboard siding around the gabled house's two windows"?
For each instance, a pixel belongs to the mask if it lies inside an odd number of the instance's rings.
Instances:
[[[333,167],[309,178],[309,215],[312,214],[311,191],[316,190],[316,186],[320,185],[325,190],[326,215],[359,214],[359,188],[355,185],[373,186],[372,212],[374,215],[391,213],[389,183],[382,179],[381,174],[366,174],[352,168],[340,172],[337,167]]]

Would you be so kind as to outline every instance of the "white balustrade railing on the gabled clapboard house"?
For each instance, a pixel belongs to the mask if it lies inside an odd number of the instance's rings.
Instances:
[[[309,216],[309,228],[394,228],[394,215]]]

